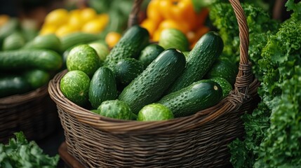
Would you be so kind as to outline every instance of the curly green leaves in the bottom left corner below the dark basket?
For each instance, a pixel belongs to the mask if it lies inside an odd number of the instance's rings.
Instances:
[[[27,141],[22,132],[16,132],[8,144],[0,144],[0,167],[3,168],[55,168],[59,159],[59,155],[50,157],[43,153],[34,141]]]

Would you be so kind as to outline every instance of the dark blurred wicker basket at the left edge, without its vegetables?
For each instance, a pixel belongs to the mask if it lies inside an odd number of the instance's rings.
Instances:
[[[0,143],[22,131],[28,140],[39,140],[60,125],[48,85],[25,94],[0,98]]]

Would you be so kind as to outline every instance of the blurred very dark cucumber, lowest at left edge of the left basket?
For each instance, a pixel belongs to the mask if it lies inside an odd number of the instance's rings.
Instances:
[[[29,91],[30,85],[22,74],[0,76],[0,97],[8,97]]]

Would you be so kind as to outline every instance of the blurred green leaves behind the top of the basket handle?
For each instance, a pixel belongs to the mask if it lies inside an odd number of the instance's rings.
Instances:
[[[253,3],[241,3],[241,6],[248,23],[250,45],[257,42],[254,39],[256,34],[276,31],[278,28],[279,23],[272,20],[266,10]],[[225,43],[223,55],[233,62],[239,62],[239,26],[231,4],[213,3],[210,6],[209,18]]]

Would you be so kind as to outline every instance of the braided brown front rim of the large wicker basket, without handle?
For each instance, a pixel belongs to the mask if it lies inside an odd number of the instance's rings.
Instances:
[[[170,120],[163,121],[137,121],[137,120],[119,120],[115,118],[107,118],[105,116],[100,116],[88,109],[84,109],[71,102],[67,97],[65,97],[60,90],[60,79],[67,73],[67,69],[56,74],[55,77],[49,82],[48,92],[51,99],[59,106],[64,109],[69,115],[74,116],[79,122],[91,125],[96,129],[115,132],[116,134],[158,134],[161,132],[184,132],[190,130],[194,127],[199,127],[200,125],[206,124],[213,120],[217,120],[220,116],[228,113],[229,111],[238,110],[243,103],[242,99],[239,99],[232,90],[232,94],[222,99],[217,105],[212,106],[203,111],[199,111],[191,116],[186,116],[182,118],[173,118]],[[251,99],[253,95],[257,93],[257,80],[253,80],[250,85],[249,91],[252,91],[252,95],[248,97]],[[233,100],[236,100],[233,102]],[[225,107],[227,106],[227,108]],[[223,107],[223,109],[221,109]],[[189,127],[182,127],[185,123],[192,123]]]

